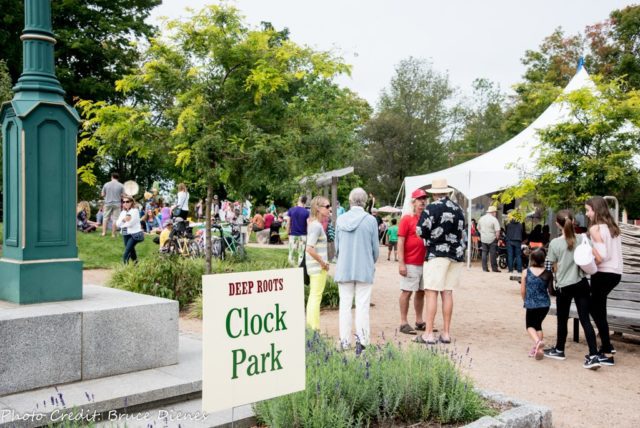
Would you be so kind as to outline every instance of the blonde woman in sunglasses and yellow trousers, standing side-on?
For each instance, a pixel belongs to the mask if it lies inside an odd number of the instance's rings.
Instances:
[[[309,299],[307,300],[307,325],[320,329],[320,302],[327,282],[329,262],[327,257],[327,234],[323,220],[331,215],[331,204],[324,196],[311,200],[311,214],[307,223],[307,248],[305,264],[309,274]]]

